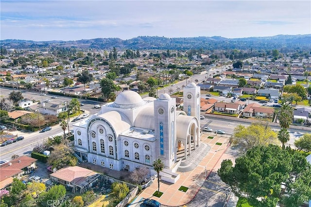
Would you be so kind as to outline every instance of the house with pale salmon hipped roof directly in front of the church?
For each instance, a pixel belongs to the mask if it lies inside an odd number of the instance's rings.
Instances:
[[[53,183],[72,188],[73,193],[84,193],[100,179],[101,174],[79,166],[62,168],[50,174]]]

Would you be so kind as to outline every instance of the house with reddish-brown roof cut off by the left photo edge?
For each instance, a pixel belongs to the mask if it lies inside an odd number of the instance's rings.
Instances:
[[[37,159],[23,155],[0,165],[0,189],[13,182],[13,178],[20,179],[22,175],[30,173],[35,169]]]

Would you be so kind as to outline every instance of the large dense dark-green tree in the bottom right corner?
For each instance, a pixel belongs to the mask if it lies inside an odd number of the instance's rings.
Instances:
[[[311,198],[311,166],[307,159],[276,145],[250,149],[235,160],[234,167],[231,160],[224,160],[218,175],[236,195],[247,195],[249,204],[255,207],[275,207],[278,201],[286,207],[297,207]]]

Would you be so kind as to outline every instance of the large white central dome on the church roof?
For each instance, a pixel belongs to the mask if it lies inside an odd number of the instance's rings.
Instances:
[[[132,90],[126,90],[117,96],[114,107],[135,108],[144,104],[139,94]]]

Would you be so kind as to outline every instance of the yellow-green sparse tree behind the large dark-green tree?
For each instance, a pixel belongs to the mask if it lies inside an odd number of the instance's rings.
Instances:
[[[276,137],[269,122],[256,122],[248,127],[240,124],[234,128],[232,144],[240,144],[242,150],[249,150],[259,145],[274,144]]]

